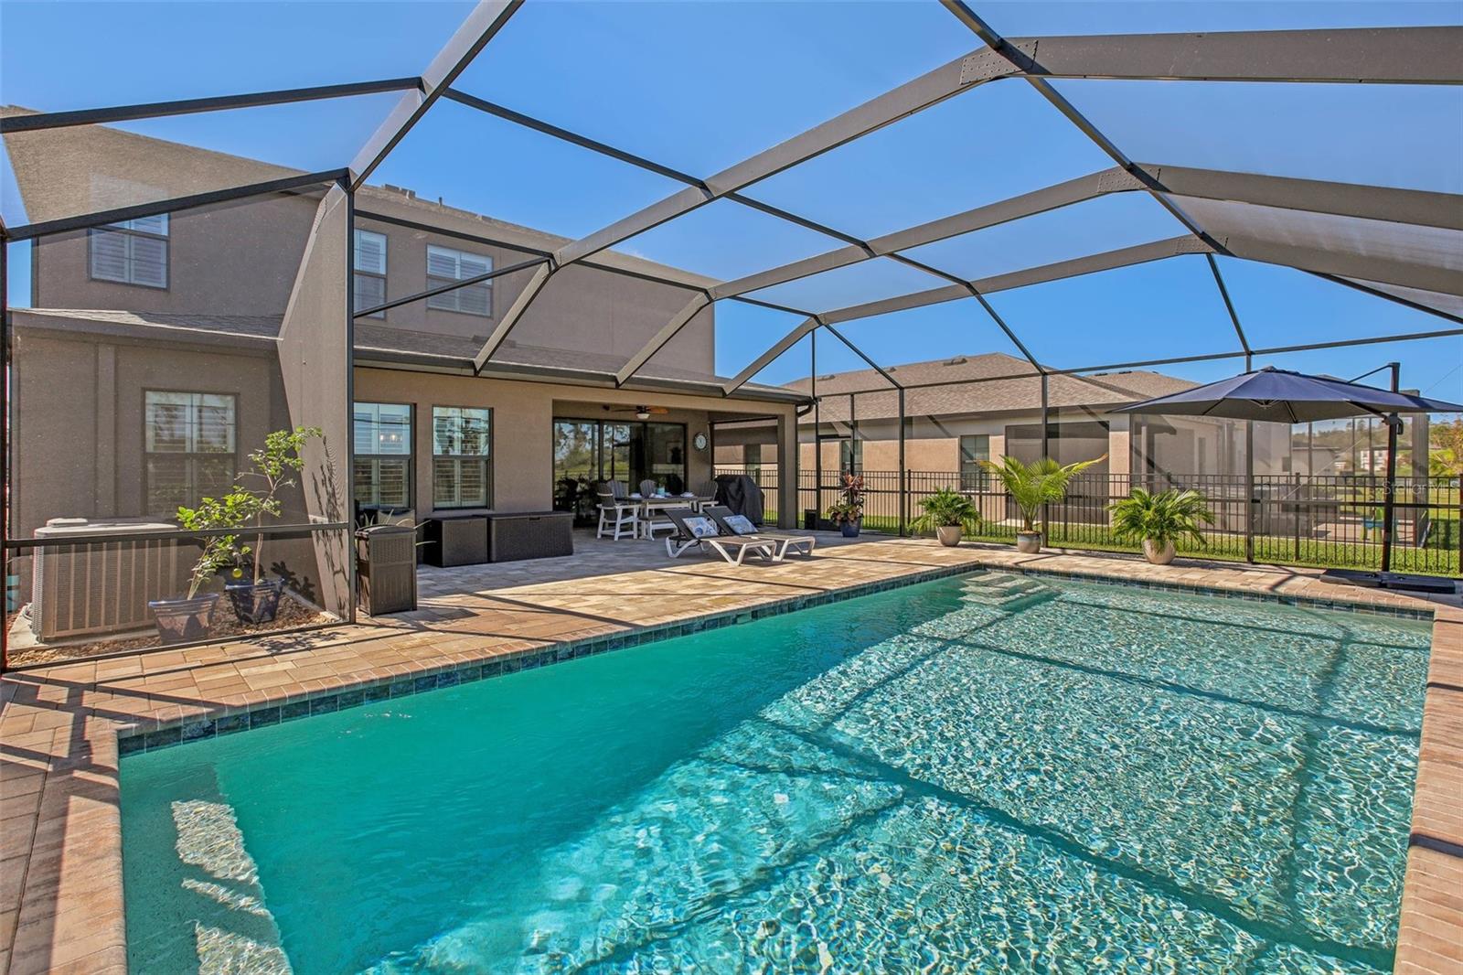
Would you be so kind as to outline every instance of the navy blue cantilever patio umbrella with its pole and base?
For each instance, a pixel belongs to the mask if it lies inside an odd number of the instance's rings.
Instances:
[[[1383,515],[1381,574],[1349,574],[1346,581],[1391,589],[1437,589],[1418,578],[1394,575],[1391,569],[1393,488],[1396,485],[1399,413],[1463,413],[1463,406],[1428,400],[1406,392],[1391,392],[1358,382],[1327,376],[1306,376],[1285,369],[1257,369],[1230,379],[1194,386],[1156,400],[1119,407],[1115,413],[1162,413],[1165,416],[1207,416],[1226,420],[1263,420],[1267,423],[1311,423],[1349,416],[1387,419],[1387,483]],[[1331,575],[1331,574],[1328,574]],[[1334,574],[1340,577],[1342,574]],[[1448,584],[1451,591],[1451,584]]]

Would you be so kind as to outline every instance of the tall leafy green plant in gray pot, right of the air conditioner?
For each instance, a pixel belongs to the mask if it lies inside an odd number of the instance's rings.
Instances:
[[[265,436],[265,445],[249,454],[253,470],[244,471],[240,477],[253,477],[260,488],[250,489],[234,485],[228,498],[237,499],[237,511],[244,514],[244,524],[253,523],[255,528],[262,528],[265,517],[278,518],[282,512],[279,492],[294,488],[294,474],[304,468],[304,444],[310,438],[320,436],[317,426],[297,426],[293,430],[275,430]],[[241,527],[241,526],[240,526]],[[263,578],[265,567],[265,536],[255,536],[253,548],[237,549],[234,581],[224,583],[224,593],[234,605],[234,615],[243,624],[272,622],[279,612],[279,594],[284,591],[282,578]],[[252,578],[244,581],[241,565],[252,564]]]

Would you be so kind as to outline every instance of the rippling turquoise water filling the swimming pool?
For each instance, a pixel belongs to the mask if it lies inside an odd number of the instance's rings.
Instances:
[[[132,968],[1387,971],[1428,640],[986,572],[129,755]]]

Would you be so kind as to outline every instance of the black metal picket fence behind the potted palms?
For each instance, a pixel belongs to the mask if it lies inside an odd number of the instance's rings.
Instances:
[[[768,520],[777,517],[775,467],[718,467],[718,474],[751,474],[762,488]],[[989,474],[955,471],[865,470],[863,530],[898,534],[919,514],[919,501],[941,488],[967,495],[980,509],[980,539],[1014,542],[1020,515],[1001,483]],[[838,471],[799,471],[797,524],[828,527],[822,518],[840,498]],[[901,490],[903,480],[903,490]],[[1208,498],[1214,524],[1204,543],[1181,543],[1200,558],[1336,568],[1381,565],[1384,486],[1369,474],[1260,474],[1246,501],[1245,479],[1229,474],[1081,474],[1067,498],[1046,508],[1048,543],[1072,549],[1135,552],[1138,545],[1112,534],[1107,505],[1132,488],[1192,488]],[[901,511],[903,502],[903,511]],[[1457,477],[1399,477],[1393,534],[1397,571],[1459,575],[1463,562],[1463,499]],[[1246,531],[1248,523],[1248,531]]]

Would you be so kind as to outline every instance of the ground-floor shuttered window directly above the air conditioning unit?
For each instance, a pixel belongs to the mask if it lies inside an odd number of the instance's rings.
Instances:
[[[225,392],[145,394],[143,470],[148,512],[171,518],[178,507],[228,493],[238,474],[237,407]]]

